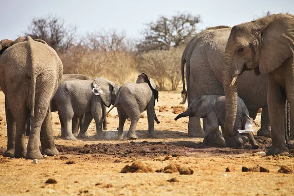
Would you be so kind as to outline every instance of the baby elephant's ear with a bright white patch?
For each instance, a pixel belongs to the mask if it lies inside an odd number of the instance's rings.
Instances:
[[[104,81],[104,80],[98,78],[97,80],[93,80],[91,87],[92,87],[92,91],[93,91],[94,95],[100,96],[104,105],[106,107],[110,107],[111,98],[112,98],[112,94],[114,91],[113,85],[111,85],[106,80]]]

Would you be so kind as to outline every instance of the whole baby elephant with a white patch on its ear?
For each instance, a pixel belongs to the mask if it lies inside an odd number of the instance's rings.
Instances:
[[[97,91],[103,91],[99,95],[95,95],[92,91],[94,84],[99,85]],[[85,114],[85,118],[77,137],[88,136],[86,131],[94,118],[96,139],[102,138],[102,114],[106,113],[106,111],[103,112],[103,108],[114,104],[119,88],[119,85],[102,77],[95,80],[68,79],[62,82],[52,100],[55,101],[58,110],[65,140],[76,140],[71,130],[71,121],[74,116],[81,114]]]

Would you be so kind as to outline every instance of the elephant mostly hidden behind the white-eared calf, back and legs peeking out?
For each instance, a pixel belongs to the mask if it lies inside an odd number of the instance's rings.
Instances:
[[[71,78],[91,79],[90,77],[88,77],[86,75],[83,75],[83,74],[63,74],[61,82],[63,82],[64,80],[67,80],[67,79],[71,79]],[[56,108],[56,105],[55,105],[54,101],[50,102],[50,107],[51,107],[51,112],[57,112],[57,108]],[[105,108],[105,110],[106,110],[106,108]],[[81,116],[73,117],[73,127],[72,127],[73,135],[75,135],[75,136],[77,135],[79,125],[82,126],[82,121],[80,121],[80,119],[83,120],[84,116],[85,115],[82,114]],[[25,136],[29,136],[29,134],[30,134],[30,115],[28,115],[28,118],[27,118],[27,121],[26,121],[26,124],[25,124]],[[63,132],[61,133],[61,137],[64,137]]]

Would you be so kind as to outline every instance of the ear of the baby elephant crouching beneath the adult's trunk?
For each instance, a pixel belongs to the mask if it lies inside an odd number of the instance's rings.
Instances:
[[[200,96],[195,98],[193,100],[193,102],[196,101],[196,108],[193,108],[196,111],[195,116],[204,118],[207,114],[211,113],[216,105],[216,100],[217,98],[215,96]]]

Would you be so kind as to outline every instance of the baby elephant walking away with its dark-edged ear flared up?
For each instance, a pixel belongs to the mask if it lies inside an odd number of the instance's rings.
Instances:
[[[158,101],[157,86],[151,78],[148,79],[145,73],[141,73],[138,76],[136,83],[128,82],[123,84],[119,89],[113,107],[108,111],[109,113],[114,107],[117,107],[120,120],[118,139],[123,139],[123,125],[127,118],[131,120],[127,137],[130,139],[138,138],[135,129],[141,113],[145,110],[147,110],[148,118],[148,137],[156,137],[154,133],[154,120],[156,123],[160,122],[154,111],[155,99]]]

